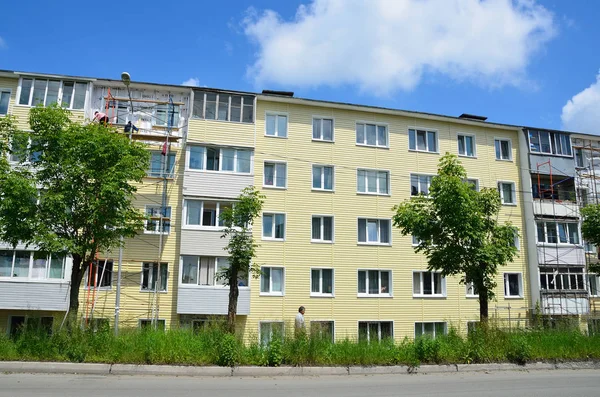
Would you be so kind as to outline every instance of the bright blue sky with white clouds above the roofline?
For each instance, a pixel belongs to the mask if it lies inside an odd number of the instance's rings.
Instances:
[[[3,5],[0,69],[127,70],[600,134],[597,1],[37,2]]]

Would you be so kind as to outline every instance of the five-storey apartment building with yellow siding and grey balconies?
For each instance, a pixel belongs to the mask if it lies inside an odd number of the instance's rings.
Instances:
[[[589,304],[585,309],[583,295],[599,280],[586,273],[594,255],[581,242],[577,200],[582,189],[591,200],[596,187],[589,177],[569,179],[585,168],[577,163],[575,135],[286,92],[0,75],[0,115],[18,116],[22,128],[31,106],[56,101],[78,122],[89,122],[97,110],[119,131],[132,121],[140,128],[132,139],[152,152],[136,197],[150,218],[123,250],[120,326],[197,328],[226,315],[228,288],[214,277],[228,265],[219,214],[254,185],[266,200],[253,228],[261,276],[240,280],[238,327],[246,338],[268,341],[275,331],[293,332],[301,305],[307,327],[337,340],[435,336],[451,326],[466,331],[479,318],[476,291],[459,277],[427,272],[413,239],[391,222],[394,205],[428,193],[446,152],[460,157],[474,188],[499,190],[500,220],[520,230],[518,257],[499,270],[490,315],[524,326],[538,301],[544,314],[569,315],[573,299],[578,313],[594,311]],[[170,123],[167,113],[176,114]],[[541,131],[550,134],[554,152],[547,153]],[[543,164],[549,156],[552,164]],[[591,155],[581,158],[594,164]],[[562,208],[563,218],[551,219],[550,207],[553,216]],[[566,233],[567,243],[553,243],[553,233],[557,241]],[[552,250],[564,250],[558,257],[568,258],[565,266],[553,261]],[[0,328],[11,332],[28,318],[61,321],[70,259],[39,258],[35,247],[22,246],[2,246],[0,254]],[[99,254],[83,282],[82,321],[114,324],[118,254]],[[550,272],[563,268],[564,280],[575,280],[573,297],[548,287]]]

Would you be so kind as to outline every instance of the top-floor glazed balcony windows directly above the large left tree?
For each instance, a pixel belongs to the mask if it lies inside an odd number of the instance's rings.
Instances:
[[[22,79],[19,105],[44,106],[60,103],[69,109],[83,109],[87,83],[74,81]]]

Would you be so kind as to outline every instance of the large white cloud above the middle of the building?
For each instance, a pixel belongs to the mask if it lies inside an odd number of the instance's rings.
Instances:
[[[386,95],[424,74],[490,87],[526,80],[532,54],[556,34],[535,0],[313,0],[286,21],[248,10],[257,85],[357,85]]]

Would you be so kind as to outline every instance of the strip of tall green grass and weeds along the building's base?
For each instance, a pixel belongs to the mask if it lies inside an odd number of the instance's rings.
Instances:
[[[47,335],[25,331],[0,336],[0,360],[71,361],[180,365],[410,365],[600,359],[600,336],[578,330],[482,329],[462,337],[454,331],[436,339],[400,343],[332,343],[319,337],[273,338],[267,346],[244,344],[218,327],[191,330],[75,330]]]

